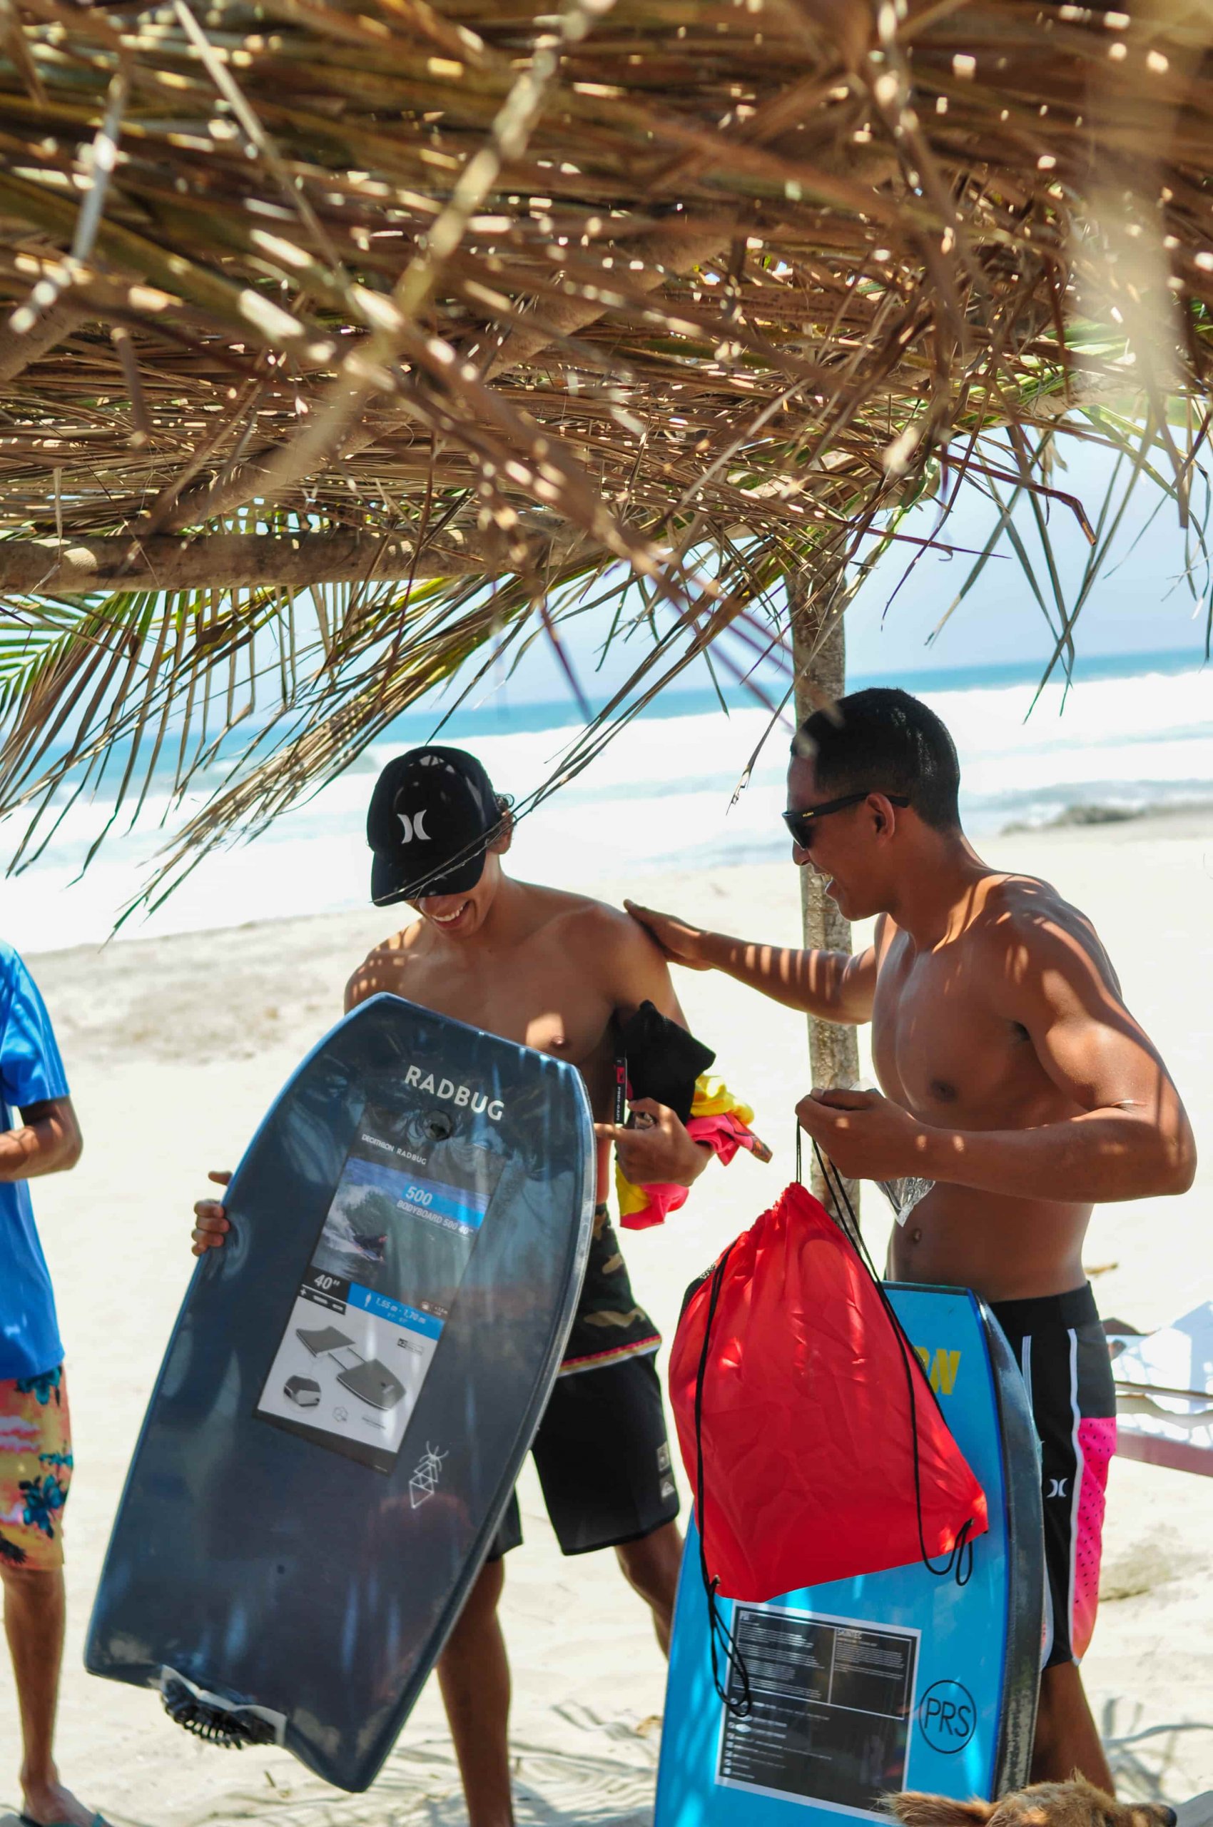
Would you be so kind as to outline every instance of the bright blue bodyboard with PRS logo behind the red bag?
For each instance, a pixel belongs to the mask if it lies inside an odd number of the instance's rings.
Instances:
[[[972,1294],[888,1288],[952,1434],[988,1500],[972,1573],[891,1568],[720,1600],[751,1712],[716,1694],[694,1527],[687,1540],[661,1730],[656,1827],[807,1827],[877,1818],[923,1789],[994,1798],[1027,1781],[1043,1621],[1039,1458],[1010,1348]],[[762,1518],[754,1518],[762,1527]],[[727,1692],[740,1697],[736,1670]]]

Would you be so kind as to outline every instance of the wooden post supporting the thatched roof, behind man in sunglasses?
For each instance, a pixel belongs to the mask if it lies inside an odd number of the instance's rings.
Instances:
[[[829,566],[820,574],[802,572],[787,585],[791,610],[791,650],[796,667],[796,723],[826,698],[846,691],[846,636],[842,632],[842,577]],[[824,892],[822,877],[806,864],[800,870],[800,917],[804,943],[811,950],[849,952],[851,923]],[[853,1027],[809,1016],[809,1065],[813,1087],[859,1083],[859,1036]],[[859,1182],[846,1180],[853,1211],[859,1215]],[[809,1166],[809,1186],[828,1209],[828,1195],[817,1160]]]

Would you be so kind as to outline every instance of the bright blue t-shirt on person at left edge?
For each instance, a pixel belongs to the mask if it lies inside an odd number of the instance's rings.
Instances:
[[[55,1030],[26,965],[0,939],[0,1129],[26,1111],[66,1098]],[[0,1180],[0,1379],[42,1376],[62,1361],[51,1277],[26,1180]]]

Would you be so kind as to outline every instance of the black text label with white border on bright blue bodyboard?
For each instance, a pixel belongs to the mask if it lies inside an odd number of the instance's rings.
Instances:
[[[747,1604],[733,1630],[751,1710],[722,1708],[720,1785],[860,1814],[906,1787],[915,1630]]]

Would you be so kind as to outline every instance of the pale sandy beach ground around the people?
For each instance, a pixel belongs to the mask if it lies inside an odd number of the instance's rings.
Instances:
[[[1018,833],[985,846],[1050,879],[1100,928],[1125,998],[1191,1111],[1202,1166],[1182,1200],[1096,1213],[1087,1266],[1105,1314],[1147,1328],[1213,1297],[1213,813]],[[796,943],[787,864],[585,882],[636,892],[729,932]],[[188,1213],[206,1167],[232,1166],[301,1052],[340,1012],[342,985],[389,923],[367,910],[124,941],[27,948],[60,1038],[86,1153],[42,1180],[35,1208],[68,1346],[77,1473],[68,1511],[69,1642],[64,1779],[119,1823],[455,1827],[459,1779],[433,1684],[367,1796],[327,1790],[285,1752],[195,1743],[153,1694],[88,1677],[80,1644],[122,1476],[190,1277]],[[791,1177],[793,1104],[809,1085],[800,1016],[716,977],[680,972],[691,1025],[776,1149],[712,1169],[663,1231],[628,1248],[638,1295],[667,1337],[687,1281]],[[886,1219],[866,1200],[873,1248]],[[650,1820],[663,1663],[612,1555],[563,1560],[533,1473],[526,1544],[508,1560],[519,1818],[548,1827]],[[1125,1792],[1182,1801],[1213,1789],[1213,1480],[1116,1460],[1103,1606],[1087,1659],[1096,1717]],[[15,1697],[0,1668],[0,1814],[15,1805]]]

